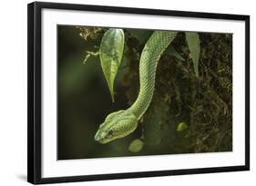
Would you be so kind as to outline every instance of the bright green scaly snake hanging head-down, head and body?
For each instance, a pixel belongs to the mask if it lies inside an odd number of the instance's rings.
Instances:
[[[149,37],[139,60],[138,98],[127,110],[108,114],[95,135],[97,142],[112,142],[136,130],[138,120],[147,111],[153,97],[159,58],[176,34],[170,31],[155,31]]]

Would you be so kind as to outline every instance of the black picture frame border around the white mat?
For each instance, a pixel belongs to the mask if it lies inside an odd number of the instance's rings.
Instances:
[[[41,132],[42,132],[42,73],[41,73],[41,23],[42,9],[61,9],[94,12],[111,12],[138,15],[165,15],[210,19],[240,20],[245,22],[245,164],[240,166],[210,167],[175,171],[144,171],[115,174],[81,175],[55,178],[42,178]],[[35,2],[27,6],[27,181],[34,184],[69,181],[99,181],[179,174],[210,173],[223,171],[250,170],[250,16],[226,15],[198,12],[141,9],[99,5],[75,5]]]

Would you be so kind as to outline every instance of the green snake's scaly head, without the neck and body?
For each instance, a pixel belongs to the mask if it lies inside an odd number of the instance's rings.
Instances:
[[[137,126],[136,116],[128,110],[110,113],[105,122],[100,124],[95,140],[100,143],[112,142],[134,132]]]

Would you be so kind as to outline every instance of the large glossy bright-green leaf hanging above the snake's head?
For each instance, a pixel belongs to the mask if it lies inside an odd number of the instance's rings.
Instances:
[[[122,29],[109,28],[99,48],[100,64],[108,83],[112,102],[115,102],[114,83],[124,51],[125,35]]]

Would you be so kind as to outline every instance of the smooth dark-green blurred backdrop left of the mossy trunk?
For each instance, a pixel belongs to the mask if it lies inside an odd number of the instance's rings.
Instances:
[[[112,103],[98,57],[83,64],[86,51],[97,51],[99,43],[100,39],[85,42],[75,26],[58,27],[58,159],[132,155],[128,145],[134,134],[108,144],[94,140],[108,113],[128,108],[125,96]],[[125,91],[117,78],[116,92]]]

